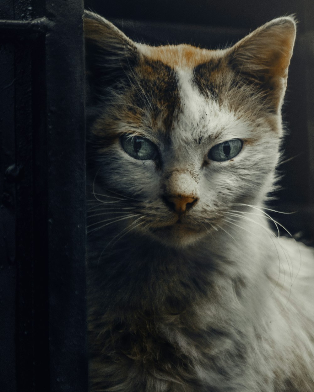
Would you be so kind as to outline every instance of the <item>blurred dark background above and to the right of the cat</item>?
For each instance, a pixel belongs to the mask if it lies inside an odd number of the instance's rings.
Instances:
[[[314,1],[252,0],[85,0],[85,8],[116,24],[130,38],[151,45],[194,44],[225,47],[259,25],[294,14],[298,34],[283,106],[287,136],[279,171],[281,191],[270,208],[298,211],[274,214],[293,234],[314,238]]]

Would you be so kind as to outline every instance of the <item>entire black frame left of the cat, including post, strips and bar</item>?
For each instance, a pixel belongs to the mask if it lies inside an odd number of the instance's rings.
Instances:
[[[82,0],[0,5],[0,390],[87,391]]]

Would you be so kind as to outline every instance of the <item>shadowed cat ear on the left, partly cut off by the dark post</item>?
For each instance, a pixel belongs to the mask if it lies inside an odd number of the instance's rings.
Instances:
[[[127,79],[139,58],[135,44],[111,22],[84,11],[88,100],[104,96],[106,88]]]

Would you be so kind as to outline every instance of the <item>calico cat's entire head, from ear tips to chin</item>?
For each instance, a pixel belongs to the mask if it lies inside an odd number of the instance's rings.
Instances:
[[[223,228],[235,204],[263,201],[279,157],[293,18],[217,51],[135,43],[90,12],[84,29],[94,192],[131,212],[119,224],[184,245]]]

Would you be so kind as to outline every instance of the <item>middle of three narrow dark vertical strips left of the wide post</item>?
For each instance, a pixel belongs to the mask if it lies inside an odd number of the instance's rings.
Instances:
[[[31,45],[15,43],[16,358],[18,390],[34,384],[34,222]],[[42,296],[44,293],[37,293]]]

